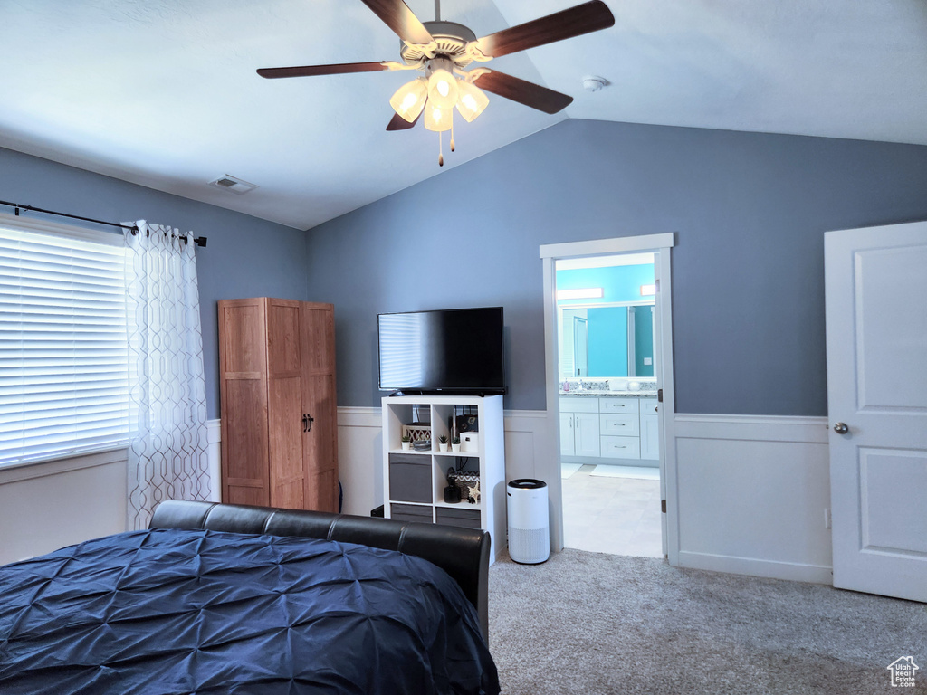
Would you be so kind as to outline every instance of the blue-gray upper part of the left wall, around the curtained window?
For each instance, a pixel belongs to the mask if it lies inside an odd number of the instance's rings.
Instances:
[[[197,248],[197,272],[210,418],[219,417],[216,301],[306,298],[306,234],[280,224],[4,148],[0,148],[0,200],[96,220],[170,224],[209,238],[206,248]]]

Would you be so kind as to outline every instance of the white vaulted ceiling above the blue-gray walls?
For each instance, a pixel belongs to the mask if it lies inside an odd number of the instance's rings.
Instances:
[[[491,63],[574,102],[489,95],[441,169],[436,133],[385,130],[409,72],[255,73],[398,60],[361,0],[0,0],[0,145],[299,229],[566,118],[927,145],[923,0],[605,1],[614,27]],[[578,2],[440,12],[482,36]],[[434,19],[433,0],[407,5]],[[608,85],[584,91],[589,75]],[[208,185],[224,174],[259,187]]]

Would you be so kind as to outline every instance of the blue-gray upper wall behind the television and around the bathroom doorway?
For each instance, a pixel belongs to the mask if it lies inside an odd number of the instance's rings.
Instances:
[[[824,415],[823,233],[927,219],[925,182],[927,146],[566,120],[311,230],[338,403],[383,395],[377,312],[502,305],[506,407],[543,409],[538,247],[675,232],[676,410]]]

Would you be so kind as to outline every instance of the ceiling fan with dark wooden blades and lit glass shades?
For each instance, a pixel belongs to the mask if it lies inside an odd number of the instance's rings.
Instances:
[[[396,114],[387,124],[387,131],[412,128],[424,112],[425,128],[437,132],[438,137],[440,133],[451,131],[451,151],[454,149],[453,109],[456,107],[467,122],[476,119],[489,104],[489,97],[481,89],[545,113],[556,113],[573,101],[572,96],[498,70],[465,68],[474,62],[485,63],[494,57],[597,32],[615,24],[615,17],[602,0],[590,0],[547,17],[476,38],[476,33],[463,24],[440,19],[440,0],[435,0],[435,20],[426,22],[419,21],[403,0],[362,2],[400,37],[401,63],[381,60],[296,68],[261,68],[258,74],[274,79],[346,72],[420,70],[425,73],[424,77],[403,84],[389,100]],[[444,157],[438,146],[438,164],[443,166]]]

